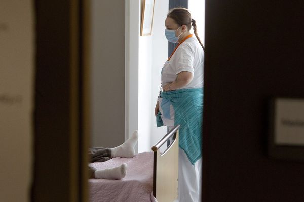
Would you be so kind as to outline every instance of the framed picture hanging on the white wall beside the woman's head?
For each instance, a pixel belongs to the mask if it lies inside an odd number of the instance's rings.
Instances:
[[[152,35],[155,0],[143,0],[140,36]]]

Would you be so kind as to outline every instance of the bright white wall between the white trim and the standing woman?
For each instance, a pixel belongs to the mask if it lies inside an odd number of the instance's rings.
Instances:
[[[164,35],[168,0],[156,0],[151,36],[139,37],[138,82],[138,151],[150,151],[151,146],[167,132],[157,128],[154,108],[161,85],[161,69],[168,58],[168,41]]]

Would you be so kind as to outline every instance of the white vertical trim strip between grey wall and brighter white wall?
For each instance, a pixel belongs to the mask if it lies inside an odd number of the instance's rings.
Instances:
[[[139,0],[126,0],[125,7],[125,139],[128,139],[138,130]]]

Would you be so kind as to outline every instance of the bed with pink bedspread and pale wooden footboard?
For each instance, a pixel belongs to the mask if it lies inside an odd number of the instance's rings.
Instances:
[[[127,164],[121,180],[89,179],[90,202],[173,202],[178,197],[178,129],[170,130],[151,152],[138,153],[133,158],[113,158],[90,163],[96,169]],[[160,148],[171,139],[163,152]]]

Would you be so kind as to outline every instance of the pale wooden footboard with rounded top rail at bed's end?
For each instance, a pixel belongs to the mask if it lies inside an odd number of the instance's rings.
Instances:
[[[155,146],[153,168],[153,195],[158,202],[173,202],[178,199],[178,129],[176,125]],[[173,138],[171,138],[173,137]],[[160,147],[172,140],[161,153]]]

